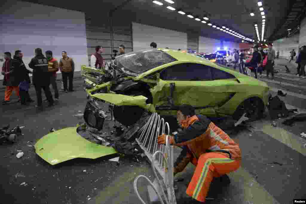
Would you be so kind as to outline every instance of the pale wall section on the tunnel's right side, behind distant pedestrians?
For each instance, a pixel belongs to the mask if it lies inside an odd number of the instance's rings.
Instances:
[[[289,59],[290,51],[293,49],[297,53],[299,47],[300,36],[294,35],[290,38],[281,38],[273,42],[274,50],[279,51],[279,57]]]

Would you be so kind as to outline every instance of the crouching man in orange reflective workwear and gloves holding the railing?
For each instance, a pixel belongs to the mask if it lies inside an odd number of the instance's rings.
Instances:
[[[236,171],[241,163],[241,150],[223,130],[204,115],[195,115],[190,105],[182,105],[177,111],[177,122],[183,131],[170,136],[170,144],[183,150],[174,163],[174,175],[182,172],[189,162],[196,166],[187,195],[205,202],[214,177],[226,176]],[[166,135],[158,137],[159,144],[166,143]]]

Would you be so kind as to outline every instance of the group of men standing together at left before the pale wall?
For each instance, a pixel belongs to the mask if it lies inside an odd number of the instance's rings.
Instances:
[[[64,85],[64,91],[73,91],[73,73],[74,73],[74,62],[73,59],[67,56],[66,51],[62,51],[62,59],[58,63],[57,59],[53,57],[52,51],[48,50],[45,52],[46,56],[43,55],[41,48],[35,49],[35,57],[31,59],[28,64],[28,70],[22,60],[23,53],[21,50],[15,51],[13,59],[10,52],[4,53],[5,62],[2,66],[2,75],[4,75],[3,85],[6,86],[5,98],[2,104],[8,104],[10,102],[10,96],[13,91],[19,97],[19,102],[22,105],[34,102],[30,97],[28,90],[31,86],[31,80],[29,74],[32,74],[32,84],[34,85],[37,97],[36,107],[43,106],[42,89],[46,95],[48,106],[54,105],[54,100],[59,99],[58,87],[57,87],[57,71],[61,70],[62,80]],[[67,81],[69,78],[69,89]],[[53,99],[50,84],[54,89],[55,98]]]

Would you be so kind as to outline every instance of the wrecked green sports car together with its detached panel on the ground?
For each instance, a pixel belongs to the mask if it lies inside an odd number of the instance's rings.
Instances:
[[[190,104],[197,114],[208,117],[233,115],[238,120],[246,113],[249,120],[256,120],[270,97],[265,82],[169,49],[120,55],[103,70],[82,66],[82,76],[90,99],[84,120],[96,133],[80,126],[43,136],[35,144],[35,152],[51,165],[116,153],[115,146],[104,145],[111,142],[102,133],[106,119],[128,127],[125,135],[132,151],[132,135],[143,127],[147,121],[144,116],[150,112],[162,117],[176,115],[180,105]],[[103,143],[96,144],[89,137]],[[113,140],[114,136],[108,138]]]

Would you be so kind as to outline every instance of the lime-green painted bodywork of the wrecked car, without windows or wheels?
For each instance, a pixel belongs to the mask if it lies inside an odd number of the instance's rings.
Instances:
[[[106,94],[93,94],[91,92],[101,89],[105,86],[108,90],[111,86],[110,82],[102,85],[97,85],[93,89],[87,89],[87,93],[100,100],[104,100],[111,104],[118,106],[122,105],[136,105],[148,111],[156,112],[156,105],[167,104],[167,97],[170,96],[170,83],[175,83],[174,89],[174,105],[190,104],[192,106],[213,106],[212,108],[205,108],[197,110],[198,114],[207,116],[225,116],[232,115],[242,101],[250,97],[259,97],[263,103],[267,105],[269,87],[265,82],[259,81],[253,77],[240,74],[239,72],[229,70],[225,67],[219,66],[216,63],[210,62],[198,56],[183,53],[181,51],[158,49],[171,55],[177,61],[164,64],[148,70],[136,77],[128,77],[133,81],[144,81],[150,84],[150,92],[153,97],[152,104],[144,104],[143,100],[139,100],[138,96],[129,96],[123,98],[121,95],[118,97],[116,93],[110,95]],[[232,74],[235,79],[222,79],[211,81],[163,81],[159,79],[159,72],[163,69],[180,63],[199,63],[216,69],[225,71]],[[90,70],[93,68],[82,66],[82,70]],[[157,80],[148,80],[146,76],[157,73]],[[85,76],[85,75],[84,75]],[[86,77],[88,78],[88,77]],[[92,83],[88,80],[88,83]],[[230,98],[230,100],[229,100]],[[176,111],[158,111],[162,115],[176,115]]]

